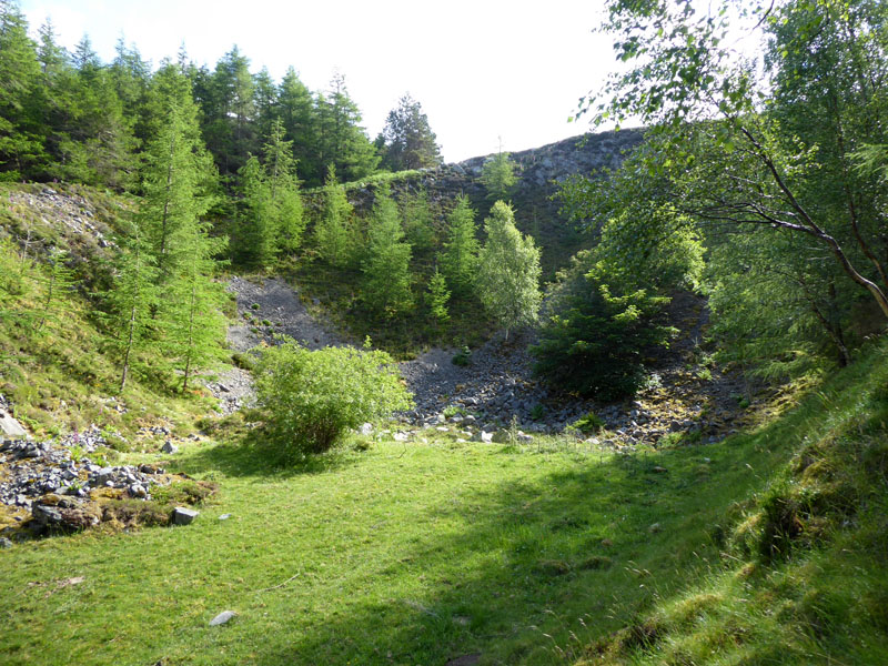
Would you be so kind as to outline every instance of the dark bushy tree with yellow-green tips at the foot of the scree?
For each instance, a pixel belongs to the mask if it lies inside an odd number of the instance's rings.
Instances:
[[[551,383],[604,400],[632,395],[645,380],[645,352],[667,343],[672,330],[657,317],[669,299],[660,294],[698,284],[703,245],[668,204],[646,212],[620,211],[595,250],[559,274],[532,347],[534,371]]]

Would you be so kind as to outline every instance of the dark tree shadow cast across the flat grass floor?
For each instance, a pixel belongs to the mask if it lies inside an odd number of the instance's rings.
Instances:
[[[256,663],[562,663],[718,562],[713,527],[764,483],[735,448],[589,460],[424,507],[414,516],[423,536],[354,582],[391,587],[323,619],[283,619]],[[710,475],[704,455],[724,456],[729,478]]]

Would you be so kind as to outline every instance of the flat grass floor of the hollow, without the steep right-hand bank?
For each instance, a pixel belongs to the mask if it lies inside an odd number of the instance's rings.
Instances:
[[[716,565],[717,517],[763,485],[746,462],[783,456],[433,440],[281,471],[242,446],[192,446],[180,468],[221,485],[193,525],[0,552],[0,654],[7,664],[443,664],[477,652],[487,664],[551,664],[572,636],[604,636]],[[224,609],[238,618],[209,627]]]

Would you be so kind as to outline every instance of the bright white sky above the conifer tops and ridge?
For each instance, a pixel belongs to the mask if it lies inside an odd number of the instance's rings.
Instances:
[[[578,99],[615,68],[595,34],[603,0],[20,0],[33,34],[50,17],[62,46],[89,34],[103,61],[121,37],[157,65],[211,69],[236,44],[251,71],[292,65],[311,90],[345,77],[371,139],[405,93],[447,162],[582,134]]]

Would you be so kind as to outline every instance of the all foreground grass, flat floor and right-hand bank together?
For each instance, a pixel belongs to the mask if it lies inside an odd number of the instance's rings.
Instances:
[[[0,551],[0,660],[885,663],[885,349],[707,446],[191,444],[193,525]]]

